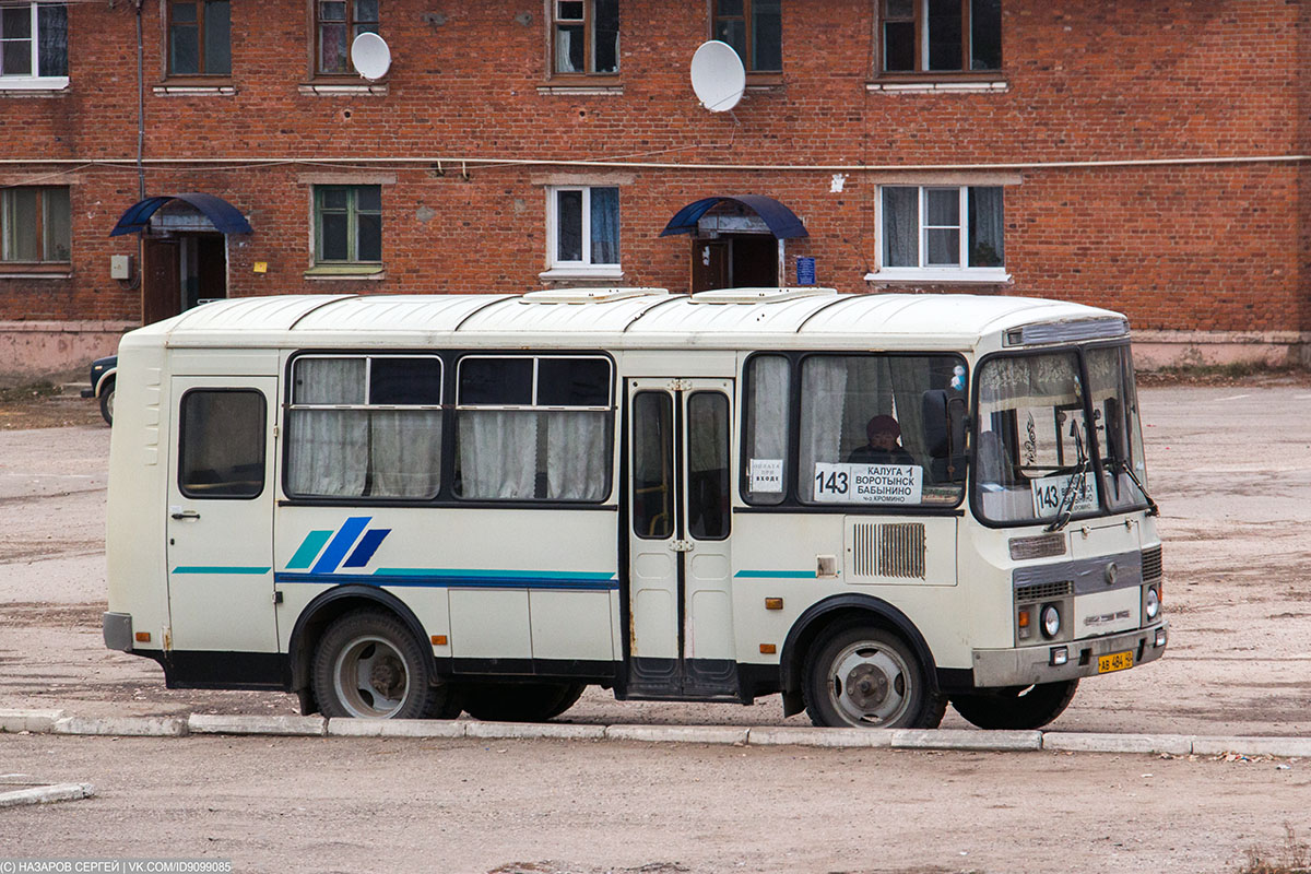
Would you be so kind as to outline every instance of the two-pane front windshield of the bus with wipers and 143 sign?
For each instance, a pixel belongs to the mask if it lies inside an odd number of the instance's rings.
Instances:
[[[975,507],[999,524],[1147,503],[1127,346],[994,358],[979,370]],[[1089,427],[1091,422],[1091,427]]]

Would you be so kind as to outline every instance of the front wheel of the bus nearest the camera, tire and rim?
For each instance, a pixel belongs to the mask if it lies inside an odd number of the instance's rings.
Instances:
[[[936,729],[947,698],[895,633],[843,624],[822,633],[806,658],[802,693],[817,726]]]

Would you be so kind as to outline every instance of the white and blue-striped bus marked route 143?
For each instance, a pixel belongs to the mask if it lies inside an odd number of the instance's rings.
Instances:
[[[119,347],[105,642],[329,717],[1036,727],[1164,651],[1146,478],[1104,309],[223,300]]]

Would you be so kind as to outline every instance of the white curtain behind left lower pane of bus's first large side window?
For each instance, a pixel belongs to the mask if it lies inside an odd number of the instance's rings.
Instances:
[[[290,410],[287,493],[359,497],[368,473],[366,410]]]

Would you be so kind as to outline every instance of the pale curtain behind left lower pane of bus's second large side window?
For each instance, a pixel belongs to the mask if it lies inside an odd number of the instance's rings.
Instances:
[[[538,414],[528,410],[461,410],[460,495],[528,501],[536,491]]]

